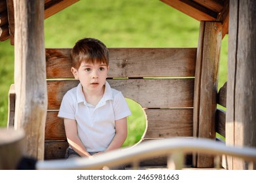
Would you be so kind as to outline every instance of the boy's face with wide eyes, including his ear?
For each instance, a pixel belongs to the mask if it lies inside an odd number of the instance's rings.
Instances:
[[[83,90],[96,92],[101,90],[107,78],[109,67],[105,63],[86,63],[82,62],[79,69],[71,68],[76,79],[79,79]]]

